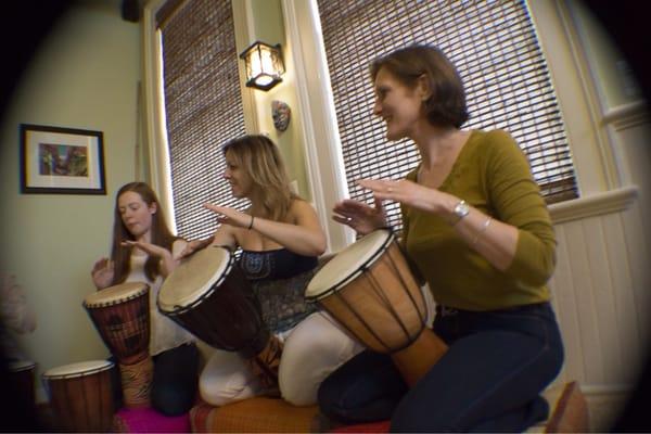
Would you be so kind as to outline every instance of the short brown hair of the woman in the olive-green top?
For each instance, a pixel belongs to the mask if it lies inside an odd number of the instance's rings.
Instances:
[[[432,90],[430,98],[424,101],[430,124],[460,128],[468,120],[463,82],[455,65],[441,49],[416,44],[378,58],[370,66],[373,81],[382,67],[410,89],[416,87],[419,77],[426,77]]]

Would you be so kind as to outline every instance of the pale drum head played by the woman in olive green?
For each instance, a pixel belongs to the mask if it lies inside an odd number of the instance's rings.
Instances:
[[[380,258],[394,239],[390,229],[378,229],[360,238],[315,275],[305,290],[305,297],[314,302],[337,291]]]

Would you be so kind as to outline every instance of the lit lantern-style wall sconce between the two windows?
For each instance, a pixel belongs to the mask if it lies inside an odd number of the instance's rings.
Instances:
[[[240,54],[246,65],[246,87],[269,90],[282,81],[284,73],[280,43],[256,41]]]

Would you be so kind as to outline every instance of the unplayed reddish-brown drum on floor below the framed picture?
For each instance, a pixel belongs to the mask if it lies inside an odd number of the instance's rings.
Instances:
[[[42,374],[56,431],[111,431],[114,367],[108,360],[91,360],[52,368]]]

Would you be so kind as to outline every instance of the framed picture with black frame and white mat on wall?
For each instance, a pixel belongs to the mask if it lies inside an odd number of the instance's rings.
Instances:
[[[102,131],[21,124],[21,192],[106,194]]]

